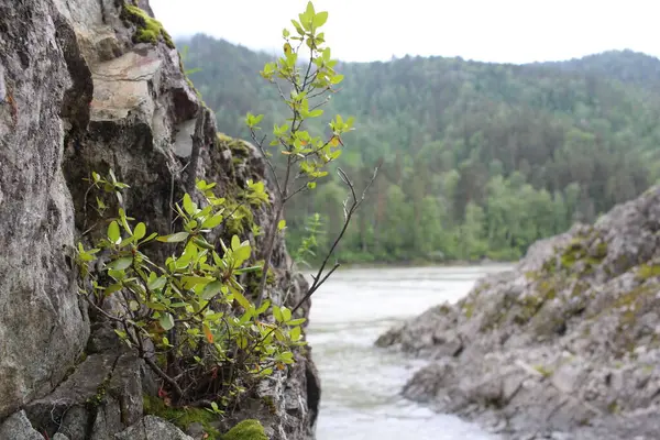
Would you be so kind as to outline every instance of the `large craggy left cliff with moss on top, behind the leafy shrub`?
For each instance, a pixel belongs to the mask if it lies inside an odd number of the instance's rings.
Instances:
[[[160,233],[195,177],[228,197],[265,179],[254,147],[216,133],[146,0],[0,0],[2,440],[204,437],[199,421],[184,433],[145,416],[154,378],[78,295],[69,251],[98,220],[84,179],[110,168],[132,188],[128,211]],[[262,228],[271,219],[252,216]],[[271,297],[295,304],[307,285],[282,241],[273,265]],[[312,439],[319,382],[309,350],[297,361],[252,405],[205,424],[222,432],[256,418],[270,439]]]

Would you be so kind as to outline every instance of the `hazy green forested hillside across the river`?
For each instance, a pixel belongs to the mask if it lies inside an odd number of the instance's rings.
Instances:
[[[275,55],[206,35],[185,47],[190,79],[219,131],[250,139],[287,118],[260,76]],[[660,178],[660,61],[630,51],[561,63],[411,57],[340,63],[326,114],[352,116],[338,166],[367,193],[342,262],[512,261],[538,239],[592,222]],[[323,127],[316,127],[322,131]],[[334,173],[287,206],[288,245],[321,219],[338,233],[346,189]]]

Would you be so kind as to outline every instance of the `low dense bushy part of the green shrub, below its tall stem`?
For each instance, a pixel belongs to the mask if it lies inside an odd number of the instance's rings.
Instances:
[[[246,298],[238,277],[262,267],[248,265],[249,241],[234,234],[224,243],[213,234],[235,211],[213,194],[215,186],[198,180],[205,206],[185,194],[175,206],[183,230],[158,235],[127,215],[121,196],[127,185],[112,173],[108,179],[94,173],[92,187],[116,194],[120,208],[92,249],[78,245],[77,263],[92,309],[112,321],[117,334],[162,378],[163,395],[221,413],[251,377],[294,362],[292,350],[305,344],[305,319],[294,319],[286,307],[271,308],[270,301],[255,307]],[[263,200],[263,186],[249,189],[246,199]],[[97,197],[99,208],[109,205]],[[177,245],[164,263],[144,252],[157,243]]]

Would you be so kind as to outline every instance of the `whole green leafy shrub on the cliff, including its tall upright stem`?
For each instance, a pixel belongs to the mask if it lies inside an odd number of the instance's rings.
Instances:
[[[101,221],[84,233],[95,237],[94,244],[78,244],[80,290],[92,311],[112,322],[121,340],[161,378],[160,395],[167,405],[201,406],[210,414],[222,414],[263,377],[293,364],[294,352],[306,343],[300,327],[305,318],[296,318],[295,312],[339,266],[334,264],[326,271],[364,199],[341,169],[351,202],[344,204],[343,228],[314,284],[292,308],[265,298],[273,276],[270,266],[275,239],[285,230],[286,201],[314,188],[316,180],[327,175],[324,166],[341,153],[341,134],[352,127],[352,120],[344,122],[337,116],[326,140],[302,130],[306,120],[322,114],[318,108],[322,102],[310,105],[310,100],[333,91],[332,87],[341,80],[332,69],[337,62],[330,58],[330,50],[321,48],[324,42],[318,29],[326,20],[327,12],[317,13],[309,3],[300,21],[294,21],[299,36],[285,31],[285,55],[262,72],[268,79],[290,80],[293,87],[290,99],[283,95],[292,118],[275,127],[271,142],[282,148],[287,166],[285,177],[279,179],[274,163],[268,161],[277,193],[273,197],[274,218],[264,238],[263,264],[253,243],[240,237],[244,231],[241,223],[252,223],[251,207],[271,204],[263,182],[249,180],[238,201],[229,195],[216,195],[216,184],[196,179],[193,174],[191,184],[189,176],[183,185],[189,193],[176,202],[173,200],[176,218],[170,224],[178,224],[177,229],[160,235],[150,233],[144,222],[127,212],[122,196],[130,189],[127,184],[119,182],[111,169],[107,177],[92,173],[86,199],[96,195],[92,206]],[[299,42],[296,50],[292,42]],[[310,48],[305,74],[297,65],[297,51],[302,44]],[[248,116],[253,136],[260,119]],[[263,142],[262,139],[258,146],[267,153]],[[84,213],[87,222],[87,204]],[[314,233],[319,226],[318,217],[314,218],[312,238],[301,245],[299,254],[314,248]],[[256,229],[256,224],[248,228]],[[250,276],[260,276],[258,285],[253,287],[245,282]]]

